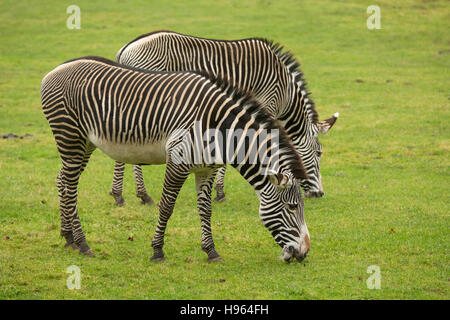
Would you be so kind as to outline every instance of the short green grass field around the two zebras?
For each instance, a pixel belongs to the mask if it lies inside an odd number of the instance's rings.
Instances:
[[[81,29],[66,28],[67,6]],[[366,26],[369,5],[381,29]],[[0,299],[449,299],[450,4],[448,1],[8,1],[0,2]],[[275,39],[292,51],[321,119],[325,196],[305,200],[311,251],[286,264],[234,170],[213,205],[223,263],[208,264],[190,177],[169,222],[167,262],[149,262],[156,206],[108,195],[113,161],[100,151],[79,186],[90,259],[63,248],[55,178],[61,166],[39,88],[58,64],[114,59],[158,29],[218,39]],[[164,166],[145,167],[161,195]],[[129,241],[132,236],[134,241]],[[69,290],[66,268],[81,269]],[[381,289],[366,285],[379,266]]]

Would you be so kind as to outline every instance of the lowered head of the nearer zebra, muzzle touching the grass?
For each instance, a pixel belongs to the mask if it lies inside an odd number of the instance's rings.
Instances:
[[[297,179],[290,171],[283,171],[270,174],[269,181],[260,193],[260,219],[283,248],[282,259],[302,261],[309,251],[310,238]]]

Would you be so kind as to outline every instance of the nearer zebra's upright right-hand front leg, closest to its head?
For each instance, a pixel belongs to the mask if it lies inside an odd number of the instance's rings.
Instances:
[[[197,207],[202,229],[202,250],[208,254],[208,262],[221,261],[219,254],[214,248],[211,232],[211,191],[216,173],[217,170],[211,170],[195,174]]]

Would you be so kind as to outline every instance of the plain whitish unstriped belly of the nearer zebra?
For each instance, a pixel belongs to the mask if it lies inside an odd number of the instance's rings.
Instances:
[[[152,144],[115,143],[89,136],[89,140],[109,157],[129,164],[164,164],[166,163],[166,141]]]

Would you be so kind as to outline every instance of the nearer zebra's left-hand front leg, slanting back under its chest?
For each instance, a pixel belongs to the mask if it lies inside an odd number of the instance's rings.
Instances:
[[[158,204],[158,226],[156,227],[155,235],[152,240],[153,256],[150,258],[151,261],[165,260],[162,247],[164,245],[164,233],[166,231],[167,221],[172,215],[178,193],[188,176],[189,170],[181,166],[174,166],[171,162],[167,163],[166,173],[164,175],[163,192]]]

